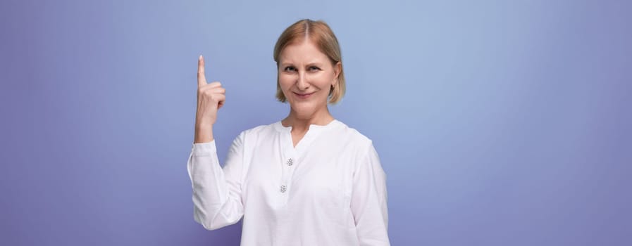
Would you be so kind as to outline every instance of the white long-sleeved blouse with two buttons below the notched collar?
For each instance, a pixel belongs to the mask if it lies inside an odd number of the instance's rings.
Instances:
[[[373,143],[334,119],[296,147],[281,122],[242,131],[221,168],[194,143],[193,216],[213,230],[244,218],[241,245],[390,245],[386,174]]]

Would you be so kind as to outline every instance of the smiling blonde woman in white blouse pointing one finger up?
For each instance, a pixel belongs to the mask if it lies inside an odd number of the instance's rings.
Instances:
[[[213,230],[242,216],[241,245],[389,245],[385,173],[371,140],[327,108],[345,93],[340,46],[322,21],[299,20],[274,48],[279,122],[242,131],[223,168],[213,139],[225,101],[199,57],[187,163],[194,219]]]

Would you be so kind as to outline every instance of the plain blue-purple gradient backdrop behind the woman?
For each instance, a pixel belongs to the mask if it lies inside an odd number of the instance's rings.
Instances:
[[[265,2],[265,3],[264,3]],[[238,245],[193,221],[197,56],[237,134],[275,39],[330,23],[393,245],[632,245],[630,1],[0,3],[0,245]]]

